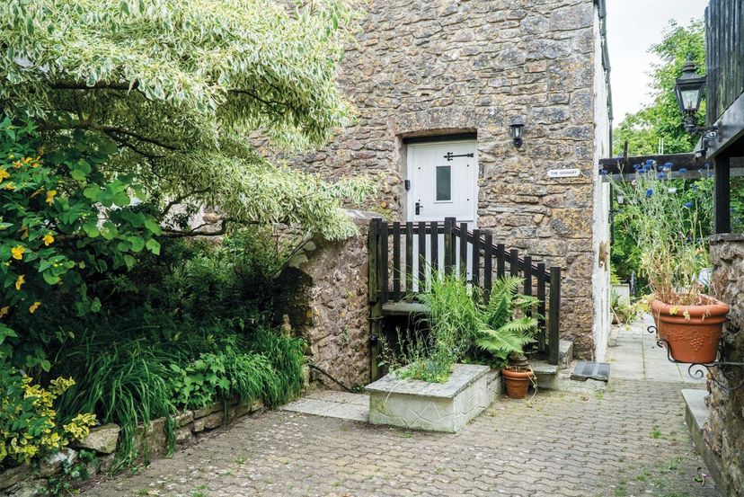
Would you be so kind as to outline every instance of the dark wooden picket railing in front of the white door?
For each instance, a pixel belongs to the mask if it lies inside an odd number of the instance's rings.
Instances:
[[[459,271],[469,284],[483,288],[486,300],[494,278],[507,274],[522,278],[524,295],[539,300],[537,351],[551,364],[558,364],[561,268],[548,269],[545,262],[533,262],[517,249],[494,244],[491,231],[468,230],[467,223],[458,225],[454,217],[429,223],[388,223],[381,218],[370,222],[368,282],[373,342],[382,332],[385,308],[403,300],[415,302],[438,271]]]

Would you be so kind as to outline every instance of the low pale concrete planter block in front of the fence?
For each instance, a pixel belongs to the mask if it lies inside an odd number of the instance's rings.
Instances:
[[[490,370],[456,364],[447,383],[387,375],[367,386],[369,422],[455,433],[491,405],[499,382]]]

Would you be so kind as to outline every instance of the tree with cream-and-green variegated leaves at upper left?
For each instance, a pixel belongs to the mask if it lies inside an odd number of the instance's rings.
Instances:
[[[351,118],[336,67],[356,29],[350,0],[4,0],[0,102],[49,146],[111,140],[103,166],[133,173],[163,215],[217,207],[228,223],[288,223],[334,238],[367,183],[327,183],[252,143],[322,145]]]

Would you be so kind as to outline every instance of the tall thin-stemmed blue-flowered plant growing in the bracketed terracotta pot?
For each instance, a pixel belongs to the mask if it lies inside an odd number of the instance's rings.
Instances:
[[[641,251],[639,271],[651,298],[673,306],[707,302],[700,274],[709,267],[699,187],[672,180],[671,163],[635,164],[632,182],[613,182]],[[680,173],[686,171],[680,170]],[[706,173],[706,172],[704,172]],[[704,186],[706,188],[706,186]],[[647,299],[648,300],[648,299]]]

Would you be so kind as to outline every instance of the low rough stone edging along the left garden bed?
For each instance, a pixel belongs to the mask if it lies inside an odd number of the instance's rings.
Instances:
[[[258,413],[263,403],[255,401],[247,404],[230,404],[225,409],[223,404],[214,404],[195,411],[185,411],[177,416],[175,422],[176,445],[183,445],[198,438],[209,430],[214,430],[228,422]],[[0,494],[11,497],[35,497],[49,494],[47,489],[51,481],[64,475],[63,463],[66,466],[75,464],[82,450],[95,454],[92,460],[85,462],[88,475],[102,475],[111,470],[119,441],[120,427],[110,423],[91,430],[91,433],[73,448],[66,448],[54,457],[32,465],[15,466],[0,473]],[[149,425],[140,425],[135,432],[137,451],[147,457],[164,456],[168,451],[168,440],[165,435],[165,418],[157,419]],[[83,484],[82,480],[70,482]],[[53,494],[53,493],[52,493]]]

